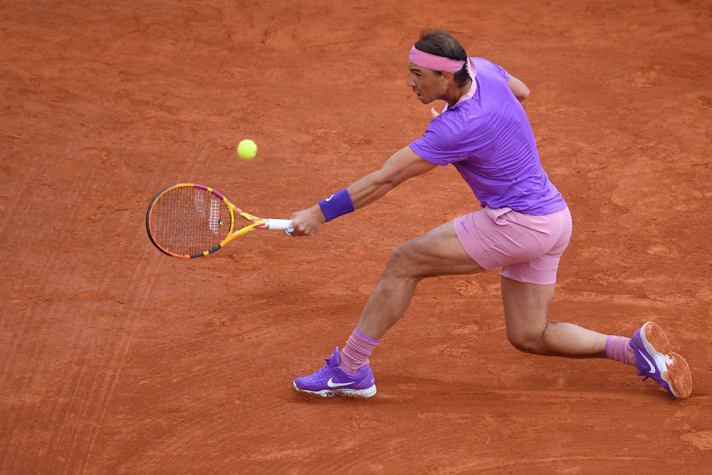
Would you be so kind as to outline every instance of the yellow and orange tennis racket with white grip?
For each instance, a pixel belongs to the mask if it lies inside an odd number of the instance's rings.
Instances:
[[[235,230],[242,216],[250,224]],[[290,219],[258,218],[229,202],[214,189],[180,183],[156,195],[146,212],[146,230],[155,246],[174,257],[212,254],[236,237],[254,229],[293,231]]]

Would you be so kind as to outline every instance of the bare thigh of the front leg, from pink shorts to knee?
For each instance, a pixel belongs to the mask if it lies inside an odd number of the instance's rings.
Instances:
[[[422,236],[399,244],[388,259],[387,272],[412,277],[483,272],[465,252],[448,221]]]

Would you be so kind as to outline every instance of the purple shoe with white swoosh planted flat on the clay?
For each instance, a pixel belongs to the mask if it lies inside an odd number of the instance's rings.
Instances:
[[[339,367],[339,361],[339,347],[336,347],[320,370],[313,375],[295,379],[294,389],[321,397],[371,397],[376,394],[376,384],[369,365],[351,375]]]

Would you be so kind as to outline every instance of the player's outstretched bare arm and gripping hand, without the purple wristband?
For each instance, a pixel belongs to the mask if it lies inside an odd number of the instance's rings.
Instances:
[[[395,152],[380,169],[350,184],[346,190],[354,209],[375,202],[409,178],[429,172],[437,165],[421,158],[410,147]],[[326,222],[319,204],[296,212],[292,216],[292,236],[310,236]]]

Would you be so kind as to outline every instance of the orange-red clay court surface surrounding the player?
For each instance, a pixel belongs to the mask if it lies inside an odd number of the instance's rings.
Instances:
[[[456,3],[0,4],[0,473],[712,473],[712,6]],[[419,137],[407,51],[433,26],[532,91],[574,216],[551,320],[656,321],[689,400],[519,353],[496,272],[421,283],[376,397],[299,397],[394,246],[476,209],[452,168],[311,238],[150,244],[169,184],[288,218]]]

